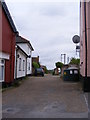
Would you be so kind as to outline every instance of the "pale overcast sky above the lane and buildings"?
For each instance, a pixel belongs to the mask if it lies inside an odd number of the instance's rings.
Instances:
[[[61,54],[76,57],[72,37],[79,35],[79,2],[33,1],[6,3],[20,36],[34,47],[33,56],[40,56],[40,63],[53,69]]]

